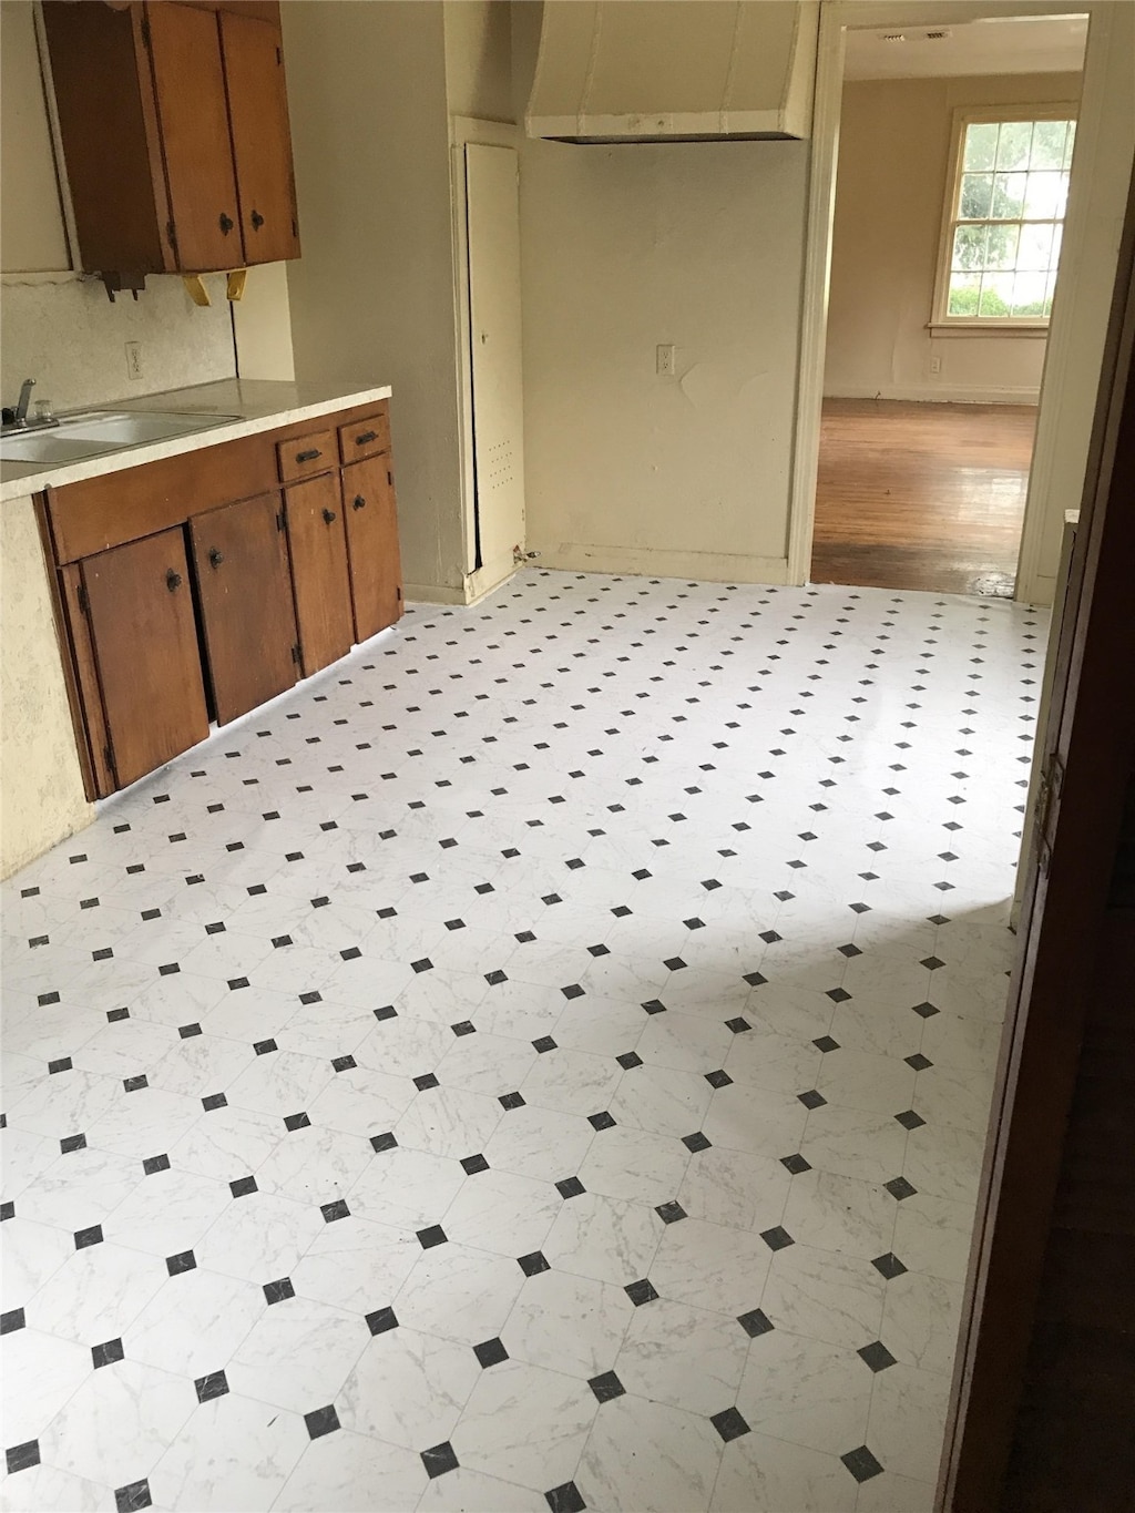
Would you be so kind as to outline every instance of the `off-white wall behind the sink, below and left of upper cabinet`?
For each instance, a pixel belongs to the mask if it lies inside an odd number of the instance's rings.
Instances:
[[[12,402],[26,377],[59,409],[229,378],[233,336],[224,278],[198,309],[180,278],[151,278],[112,304],[95,278],[70,272],[51,156],[32,6],[0,5],[0,393]],[[126,342],[142,343],[142,377],[126,372]]]

